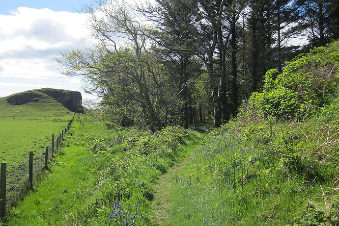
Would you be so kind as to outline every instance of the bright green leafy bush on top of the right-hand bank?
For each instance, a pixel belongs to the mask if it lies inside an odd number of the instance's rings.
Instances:
[[[338,81],[339,43],[311,50],[288,62],[281,74],[266,73],[264,87],[250,98],[264,116],[302,119],[333,100]],[[329,57],[330,56],[330,57]]]

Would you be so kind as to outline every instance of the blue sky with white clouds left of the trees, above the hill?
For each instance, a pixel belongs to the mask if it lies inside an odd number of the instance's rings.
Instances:
[[[87,17],[91,0],[5,0],[0,4],[0,97],[39,88],[85,94],[80,77],[62,75],[60,51],[91,47]]]

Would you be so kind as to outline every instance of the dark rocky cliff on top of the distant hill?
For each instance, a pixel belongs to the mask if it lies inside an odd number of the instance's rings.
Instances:
[[[29,90],[9,96],[6,102],[12,105],[20,105],[29,102],[39,102],[48,98],[53,98],[54,100],[59,101],[69,110],[80,112],[84,111],[81,93],[69,90],[51,88]]]

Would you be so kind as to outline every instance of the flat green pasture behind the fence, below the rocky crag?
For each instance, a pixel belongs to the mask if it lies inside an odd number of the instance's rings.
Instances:
[[[11,203],[28,183],[28,156],[33,151],[33,176],[44,164],[43,153],[57,139],[73,112],[52,98],[12,105],[0,98],[0,161],[7,163],[7,199]],[[15,117],[15,118],[14,118]]]

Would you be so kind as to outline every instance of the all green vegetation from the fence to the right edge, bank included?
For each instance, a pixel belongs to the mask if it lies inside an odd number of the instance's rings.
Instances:
[[[338,225],[338,50],[335,42],[269,71],[203,148],[201,134],[180,127],[152,134],[80,115],[9,225]],[[159,178],[168,180],[164,208],[154,200]]]

